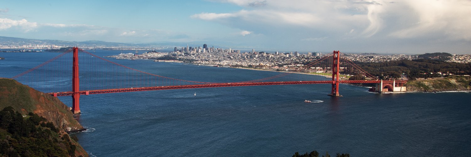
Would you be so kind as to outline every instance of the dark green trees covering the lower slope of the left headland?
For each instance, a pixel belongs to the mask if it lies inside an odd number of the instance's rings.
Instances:
[[[74,157],[75,141],[42,116],[22,116],[13,107],[0,111],[1,157]]]

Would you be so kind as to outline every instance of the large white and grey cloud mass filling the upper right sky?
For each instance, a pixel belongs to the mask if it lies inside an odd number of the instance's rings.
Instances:
[[[273,32],[278,32],[275,35],[304,35],[301,39],[330,36],[471,40],[470,0],[212,1],[235,4],[243,9],[191,17],[266,35]]]

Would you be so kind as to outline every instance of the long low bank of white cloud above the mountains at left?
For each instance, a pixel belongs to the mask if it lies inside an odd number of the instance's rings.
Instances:
[[[96,25],[81,24],[38,24],[23,20],[0,18],[0,32],[4,36],[25,37],[33,39],[55,39],[65,41],[103,40],[112,42],[130,41],[184,41],[191,39],[172,38],[181,32],[166,30],[125,30]]]

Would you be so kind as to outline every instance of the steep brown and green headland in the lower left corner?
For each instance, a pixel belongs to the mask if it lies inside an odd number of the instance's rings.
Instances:
[[[7,145],[11,147],[7,154],[13,156],[15,153],[20,156],[64,156],[67,154],[72,157],[89,156],[76,138],[69,136],[71,132],[86,129],[74,119],[69,107],[56,97],[36,91],[13,79],[0,78],[0,109],[4,109],[1,111],[3,114],[0,114],[1,120],[5,120],[2,124],[17,121],[16,123],[24,125],[23,129],[18,130],[22,132],[20,143],[18,143],[20,137],[16,135],[17,130],[12,130],[11,127],[8,127],[8,130],[0,128],[0,139],[3,140],[2,142],[8,141]],[[21,122],[15,119],[15,116],[8,116],[16,115],[16,113],[39,126],[27,125],[29,123],[27,121]],[[9,126],[13,125],[16,126],[16,124]],[[42,135],[37,136],[41,132]],[[41,147],[50,147],[51,150],[40,150]]]

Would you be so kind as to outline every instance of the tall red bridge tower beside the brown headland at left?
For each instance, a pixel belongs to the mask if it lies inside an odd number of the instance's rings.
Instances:
[[[72,112],[80,114],[79,100],[79,48],[73,47],[73,65],[72,65]]]

